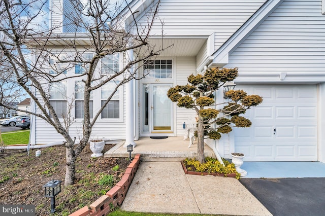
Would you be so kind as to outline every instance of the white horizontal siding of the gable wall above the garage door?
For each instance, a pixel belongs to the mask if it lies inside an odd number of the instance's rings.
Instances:
[[[226,67],[239,67],[240,74],[323,74],[320,8],[320,1],[284,1],[230,54]]]

